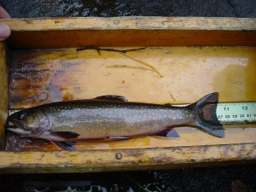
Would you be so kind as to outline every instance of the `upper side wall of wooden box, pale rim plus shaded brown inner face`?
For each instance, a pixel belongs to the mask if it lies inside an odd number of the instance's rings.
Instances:
[[[256,44],[256,19],[116,17],[9,19],[16,48]]]

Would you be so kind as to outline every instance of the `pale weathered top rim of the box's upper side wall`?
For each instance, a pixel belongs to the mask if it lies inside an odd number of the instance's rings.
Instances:
[[[248,30],[256,28],[253,18],[225,18],[225,17],[71,17],[71,18],[26,18],[3,19],[13,31],[48,31],[73,29],[201,29],[201,30]]]

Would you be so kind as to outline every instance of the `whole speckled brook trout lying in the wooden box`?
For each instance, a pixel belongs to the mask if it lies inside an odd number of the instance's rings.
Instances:
[[[171,104],[127,102],[123,96],[54,102],[27,108],[9,116],[16,125],[8,128],[21,137],[36,137],[67,150],[79,140],[124,140],[131,137],[169,137],[172,127],[189,125],[216,137],[224,137],[216,108],[218,93],[212,93],[186,107]]]

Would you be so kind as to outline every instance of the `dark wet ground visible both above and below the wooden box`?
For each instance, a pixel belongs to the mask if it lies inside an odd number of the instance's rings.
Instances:
[[[256,17],[256,0],[0,0],[9,15]],[[0,191],[256,191],[256,165],[148,172],[0,175]],[[75,190],[76,189],[76,190]]]

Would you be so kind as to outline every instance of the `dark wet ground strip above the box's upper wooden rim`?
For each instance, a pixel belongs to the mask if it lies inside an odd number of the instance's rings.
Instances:
[[[12,17],[256,17],[255,0],[0,0]]]

